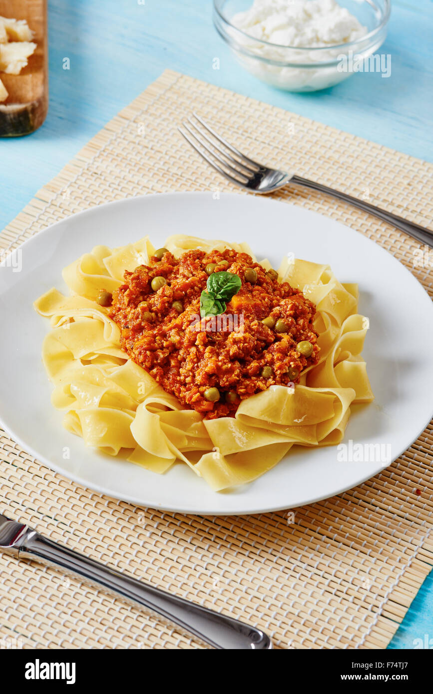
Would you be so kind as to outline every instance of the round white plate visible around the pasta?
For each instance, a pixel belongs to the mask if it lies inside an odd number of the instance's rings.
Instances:
[[[0,418],[10,435],[44,464],[109,496],[192,514],[253,514],[307,504],[350,489],[381,462],[339,462],[337,448],[297,448],[255,482],[211,491],[184,464],[155,475],[86,448],[62,428],[41,361],[48,321],[32,302],[66,289],[62,268],[96,244],[119,246],[145,234],[156,246],[175,233],[247,241],[260,260],[283,255],[329,263],[341,282],[358,282],[359,312],[370,319],[364,357],[375,402],[357,407],[345,441],[391,446],[396,459],[432,416],[433,310],[416,279],[380,246],[342,224],[271,199],[211,193],[132,198],[54,224],[15,251],[0,269],[2,338]],[[22,270],[16,271],[21,257]],[[69,458],[67,457],[69,452]]]

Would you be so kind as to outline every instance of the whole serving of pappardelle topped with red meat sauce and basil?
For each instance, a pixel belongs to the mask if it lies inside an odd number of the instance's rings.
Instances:
[[[96,246],[64,269],[70,296],[35,301],[51,320],[42,359],[65,428],[154,473],[182,462],[215,491],[255,480],[294,445],[339,443],[350,405],[373,400],[357,285],[290,255],[277,273],[247,244],[174,235],[160,250],[148,237]],[[245,325],[218,329],[227,314]],[[212,320],[223,337],[207,334]]]

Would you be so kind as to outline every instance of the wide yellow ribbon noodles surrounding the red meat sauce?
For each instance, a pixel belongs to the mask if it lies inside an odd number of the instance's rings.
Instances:
[[[175,257],[192,248],[232,248],[254,259],[247,244],[175,235],[164,245]],[[216,491],[255,480],[291,446],[339,443],[350,406],[373,400],[361,356],[368,320],[357,313],[357,285],[341,284],[328,265],[287,257],[280,281],[317,308],[319,363],[307,367],[296,386],[271,385],[241,400],[235,417],[204,419],[128,357],[108,308],[96,303],[101,287],[117,289],[124,272],[149,264],[154,251],[148,237],[120,248],[96,246],[63,270],[70,296],[50,289],[35,301],[51,321],[42,360],[65,428],[87,446],[154,473],[182,462]],[[260,264],[270,268],[267,260]]]

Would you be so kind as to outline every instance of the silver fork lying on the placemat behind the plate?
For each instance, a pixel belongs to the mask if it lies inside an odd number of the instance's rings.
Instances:
[[[407,221],[386,210],[376,208],[375,205],[370,205],[364,200],[353,198],[353,196],[339,190],[321,185],[321,183],[315,183],[307,178],[296,176],[296,174],[287,174],[286,171],[280,171],[280,169],[269,169],[239,152],[239,149],[218,135],[214,128],[208,126],[196,113],[193,116],[194,119],[189,118],[188,121],[182,123],[181,128],[178,128],[180,134],[211,167],[218,171],[221,176],[230,180],[231,183],[239,185],[249,192],[260,194],[272,193],[288,183],[303,185],[321,193],[332,195],[345,203],[350,203],[363,212],[374,214],[375,217],[393,224],[412,238],[433,248],[433,230]]]

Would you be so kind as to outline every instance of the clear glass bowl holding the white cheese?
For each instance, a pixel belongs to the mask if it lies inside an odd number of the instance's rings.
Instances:
[[[253,0],[214,0],[214,25],[240,65],[267,84],[289,92],[314,92],[338,84],[355,71],[391,69],[387,56],[373,57],[387,36],[390,0],[339,0],[366,26],[367,33],[356,41],[323,48],[280,46],[233,26],[232,17],[252,4]]]

